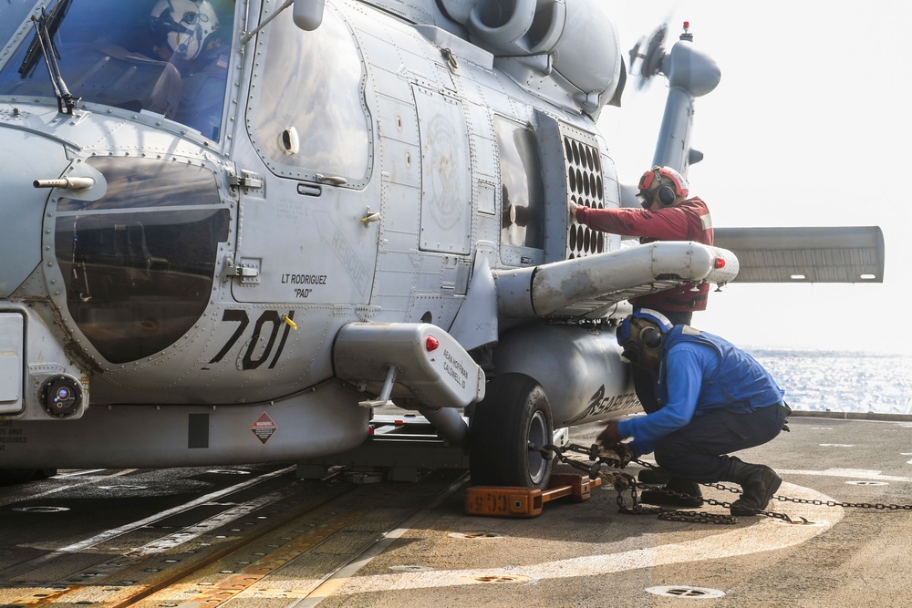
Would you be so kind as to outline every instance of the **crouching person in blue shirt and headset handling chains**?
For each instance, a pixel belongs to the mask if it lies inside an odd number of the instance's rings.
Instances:
[[[657,372],[659,409],[645,417],[612,420],[598,440],[606,447],[633,438],[639,456],[655,452],[679,495],[644,491],[643,502],[700,506],[697,483],[733,481],[743,495],[732,515],[766,509],[782,479],[764,465],[730,452],[759,446],[779,435],[791,410],[784,391],[753,357],[717,335],[671,325],[655,310],[639,308],[617,328],[617,342],[635,366]]]

